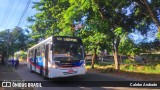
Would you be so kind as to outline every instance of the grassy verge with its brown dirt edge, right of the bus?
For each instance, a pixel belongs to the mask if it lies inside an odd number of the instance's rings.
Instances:
[[[160,64],[157,65],[138,65],[138,64],[122,64],[120,70],[114,69],[114,64],[96,63],[95,68],[91,69],[91,65],[86,66],[88,71],[133,78],[140,81],[160,81]]]

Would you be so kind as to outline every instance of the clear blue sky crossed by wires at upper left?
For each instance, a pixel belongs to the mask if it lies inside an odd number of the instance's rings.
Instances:
[[[39,0],[1,0],[0,1],[0,31],[19,26],[27,29],[30,24],[27,17],[36,13],[33,3]],[[28,4],[28,5],[27,5]],[[28,7],[28,9],[26,9]]]

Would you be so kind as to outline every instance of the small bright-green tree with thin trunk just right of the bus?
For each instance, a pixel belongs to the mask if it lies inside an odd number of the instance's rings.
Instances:
[[[95,59],[97,59],[98,52],[102,49],[102,45],[106,43],[105,34],[98,32],[95,28],[91,26],[86,26],[86,28],[80,30],[78,33],[79,37],[83,37],[83,43],[86,51],[90,51],[92,56],[92,68],[94,68]]]

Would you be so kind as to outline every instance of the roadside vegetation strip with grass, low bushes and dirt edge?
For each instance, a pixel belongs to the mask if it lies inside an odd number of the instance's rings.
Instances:
[[[125,59],[120,62],[120,70],[114,68],[114,61],[96,60],[95,68],[91,68],[91,62],[86,61],[86,68],[88,71],[99,72],[103,74],[111,74],[116,76],[123,76],[128,78],[135,78],[146,81],[159,81],[160,76],[160,58],[159,54],[142,55],[147,61],[134,61]],[[158,60],[157,60],[158,59]]]

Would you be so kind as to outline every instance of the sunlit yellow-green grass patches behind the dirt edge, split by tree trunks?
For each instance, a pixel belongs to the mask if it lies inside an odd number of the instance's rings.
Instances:
[[[102,70],[102,72],[113,72],[114,64],[110,62],[96,63],[94,65],[95,69]],[[86,65],[87,69],[91,69],[91,64]],[[126,61],[124,64],[120,65],[120,71],[144,73],[144,74],[160,74],[160,64],[150,64],[150,65],[140,65],[133,61]]]

